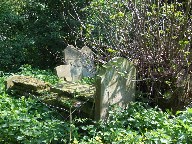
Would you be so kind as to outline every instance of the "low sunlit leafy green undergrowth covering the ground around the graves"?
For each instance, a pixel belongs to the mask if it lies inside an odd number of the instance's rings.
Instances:
[[[49,72],[22,67],[17,74],[51,83]],[[175,115],[140,102],[127,109],[112,106],[105,121],[73,118],[71,123],[34,99],[10,96],[0,78],[0,143],[192,143],[192,108]]]

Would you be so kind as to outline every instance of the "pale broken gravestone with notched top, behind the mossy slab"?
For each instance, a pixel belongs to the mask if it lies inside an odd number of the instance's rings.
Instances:
[[[64,50],[66,64],[55,68],[58,77],[73,82],[83,77],[93,77],[94,63],[91,57],[93,52],[88,47],[78,50],[72,45],[67,46]]]

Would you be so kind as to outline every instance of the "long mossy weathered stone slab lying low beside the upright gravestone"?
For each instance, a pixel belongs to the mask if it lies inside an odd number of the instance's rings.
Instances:
[[[70,109],[89,118],[94,116],[96,90],[92,85],[63,81],[51,86],[30,76],[14,75],[7,78],[6,89],[14,90],[18,96],[32,96],[49,107],[61,110],[67,116]]]

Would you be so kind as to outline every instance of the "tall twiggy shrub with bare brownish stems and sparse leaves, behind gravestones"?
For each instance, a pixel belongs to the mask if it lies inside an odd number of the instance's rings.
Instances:
[[[152,103],[178,109],[192,97],[191,6],[178,0],[93,0],[83,9],[83,40],[103,61],[134,61],[138,90]]]

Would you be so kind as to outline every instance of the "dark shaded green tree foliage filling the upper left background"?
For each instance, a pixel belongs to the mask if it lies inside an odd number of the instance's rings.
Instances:
[[[74,0],[1,0],[1,70],[13,71],[23,64],[52,68],[63,63],[63,49],[78,43],[74,31],[83,18],[79,9],[85,5]]]

